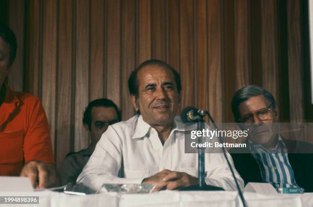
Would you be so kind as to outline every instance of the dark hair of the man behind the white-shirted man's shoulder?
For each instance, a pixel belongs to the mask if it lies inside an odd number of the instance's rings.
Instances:
[[[118,114],[118,121],[121,121],[121,112],[119,111],[119,108],[113,101],[109,99],[96,99],[88,104],[84,112],[83,124],[87,124],[89,129],[91,129],[91,122],[92,122],[91,111],[94,106],[101,106],[105,108],[113,107],[116,110],[116,113]]]

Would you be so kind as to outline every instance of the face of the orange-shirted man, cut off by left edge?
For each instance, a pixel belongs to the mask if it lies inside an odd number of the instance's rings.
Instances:
[[[0,37],[0,88],[9,72],[10,45]]]

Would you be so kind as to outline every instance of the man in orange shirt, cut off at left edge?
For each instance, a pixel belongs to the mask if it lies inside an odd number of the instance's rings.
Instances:
[[[4,83],[16,55],[13,31],[0,25],[0,176],[27,176],[34,188],[56,182],[46,113],[40,100]]]

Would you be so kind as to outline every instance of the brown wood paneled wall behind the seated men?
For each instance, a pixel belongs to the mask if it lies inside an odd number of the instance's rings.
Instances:
[[[272,91],[282,122],[309,119],[305,1],[4,2],[18,40],[8,83],[42,100],[58,167],[88,144],[82,114],[89,101],[113,100],[123,120],[135,114],[127,79],[150,58],[180,72],[181,108],[209,109],[216,122],[233,122],[232,96],[248,84]]]

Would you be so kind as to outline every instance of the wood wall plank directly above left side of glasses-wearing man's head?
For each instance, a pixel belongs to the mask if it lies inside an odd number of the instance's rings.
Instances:
[[[236,89],[250,83],[249,1],[234,2]]]

